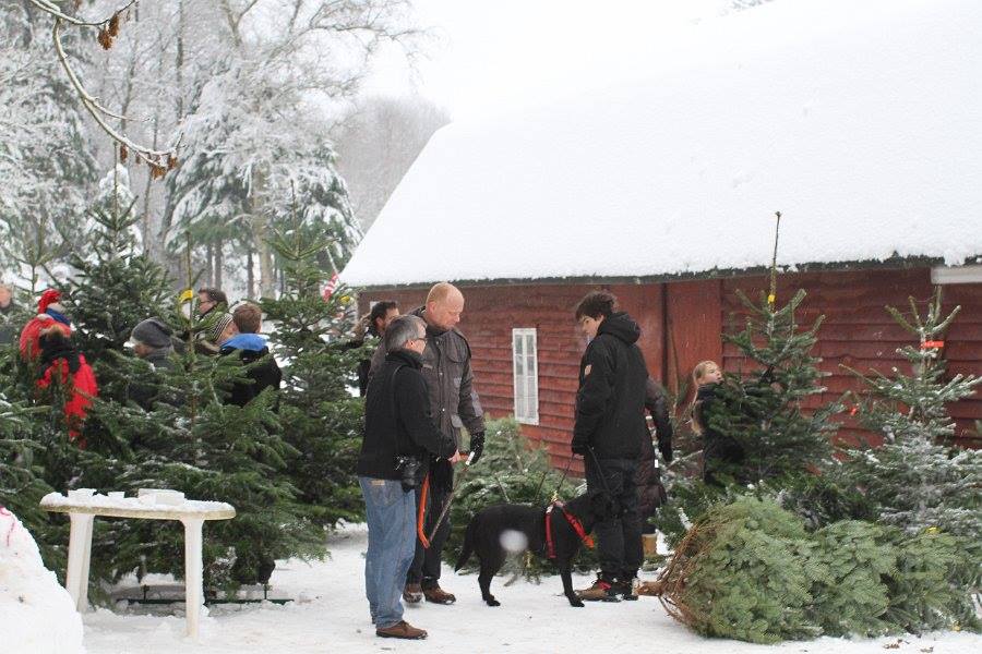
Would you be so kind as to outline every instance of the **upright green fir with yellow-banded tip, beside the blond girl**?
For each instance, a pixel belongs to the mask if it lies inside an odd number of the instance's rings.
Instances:
[[[723,335],[754,365],[744,377],[727,374],[706,419],[720,434],[734,438],[746,457],[731,476],[744,482],[797,476],[824,467],[831,457],[838,425],[829,419],[842,411],[839,401],[804,404],[826,392],[812,354],[824,316],[801,328],[795,312],[805,299],[799,290],[781,307],[761,294],[758,303],[738,291],[747,315],[743,330]]]

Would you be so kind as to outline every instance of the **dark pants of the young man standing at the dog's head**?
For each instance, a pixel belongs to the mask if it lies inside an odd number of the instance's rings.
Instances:
[[[609,489],[621,509],[619,518],[598,522],[594,526],[599,541],[597,553],[600,558],[600,577],[606,581],[636,577],[644,562],[640,520],[637,516],[637,486],[634,483],[637,460],[596,460],[587,455],[585,463],[587,489]],[[607,482],[606,485],[601,479]]]

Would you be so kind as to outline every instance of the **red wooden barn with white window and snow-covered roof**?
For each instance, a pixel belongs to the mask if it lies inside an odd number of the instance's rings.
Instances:
[[[900,362],[910,338],[884,305],[924,302],[936,283],[962,305],[950,373],[982,373],[982,10],[968,13],[753,12],[694,31],[671,60],[684,65],[649,80],[453,123],[342,278],[364,289],[362,311],[408,310],[432,282],[457,282],[487,411],[515,414],[556,458],[585,346],[576,301],[611,289],[670,386],[704,359],[738,371],[720,334],[735,291],[766,286],[775,209],[779,300],[803,288],[802,322],[826,316],[823,399],[854,387],[840,364]],[[961,443],[982,445],[982,397],[951,412]]]

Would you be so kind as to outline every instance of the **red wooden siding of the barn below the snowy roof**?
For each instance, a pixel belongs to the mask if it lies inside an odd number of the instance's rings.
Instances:
[[[719,361],[728,371],[739,372],[747,362],[720,334],[742,323],[742,306],[735,291],[756,298],[767,288],[767,278],[742,277],[644,284],[508,284],[463,288],[466,304],[459,328],[474,352],[472,367],[481,403],[492,416],[513,413],[512,328],[537,330],[539,364],[539,424],[523,425],[523,433],[548,448],[554,465],[568,460],[573,428],[573,402],[577,387],[579,358],[586,339],[573,318],[573,308],[589,290],[608,288],[622,307],[642,326],[639,341],[648,370],[670,388],[688,385],[693,366],[704,359]],[[860,371],[871,367],[888,372],[902,366],[897,348],[910,337],[884,311],[885,304],[907,307],[908,295],[926,301],[932,293],[930,269],[876,269],[866,271],[823,271],[779,277],[778,298],[787,300],[798,288],[809,293],[799,319],[811,324],[826,316],[816,353],[830,376],[828,391],[814,402],[827,402],[847,390],[859,389],[854,377],[842,366]],[[371,300],[396,300],[404,312],[422,304],[426,289],[372,291],[360,298],[361,311]],[[945,306],[961,304],[962,311],[948,338],[945,355],[949,373],[982,373],[982,284],[945,288]],[[688,388],[688,392],[692,390]],[[950,407],[957,419],[958,443],[982,447],[973,434],[973,422],[982,420],[982,395]],[[843,425],[840,435],[855,439],[863,435],[854,424]],[[582,470],[577,464],[574,473]]]

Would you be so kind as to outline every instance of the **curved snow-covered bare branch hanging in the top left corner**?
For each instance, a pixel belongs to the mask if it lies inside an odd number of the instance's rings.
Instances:
[[[120,159],[125,161],[130,153],[136,157],[137,161],[143,160],[151,169],[151,178],[163,178],[168,170],[172,170],[177,166],[177,156],[175,149],[158,150],[152,147],[140,145],[131,141],[125,134],[120,133],[108,123],[108,119],[128,120],[123,116],[119,116],[99,104],[98,99],[89,94],[79,75],[72,69],[68,55],[64,52],[64,46],[61,43],[61,26],[63,23],[74,25],[76,27],[98,27],[98,41],[103,49],[108,50],[112,47],[113,39],[119,35],[119,27],[125,12],[136,4],[139,0],[129,0],[124,7],[112,12],[108,19],[99,21],[83,21],[75,16],[63,13],[58,5],[51,0],[28,0],[40,11],[51,15],[55,19],[55,27],[51,29],[51,38],[55,43],[55,51],[61,66],[68,74],[69,82],[79,94],[79,99],[89,116],[96,121],[96,124],[109,135],[110,138],[119,144]]]

